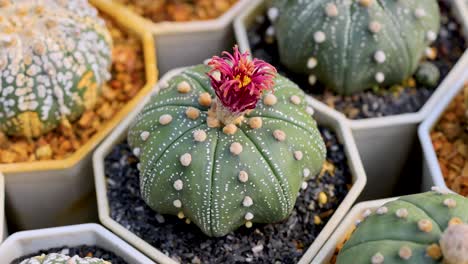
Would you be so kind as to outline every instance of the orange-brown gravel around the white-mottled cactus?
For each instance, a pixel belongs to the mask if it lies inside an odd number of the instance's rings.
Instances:
[[[109,17],[106,20],[114,40],[112,79],[103,88],[93,110],[75,122],[64,120],[55,130],[28,141],[0,132],[0,163],[64,159],[94,136],[145,84],[144,59],[138,37],[122,31]]]

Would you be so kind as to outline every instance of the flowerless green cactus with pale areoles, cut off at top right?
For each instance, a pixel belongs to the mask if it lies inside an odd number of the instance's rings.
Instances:
[[[349,95],[400,83],[437,37],[436,0],[276,0],[282,64]]]

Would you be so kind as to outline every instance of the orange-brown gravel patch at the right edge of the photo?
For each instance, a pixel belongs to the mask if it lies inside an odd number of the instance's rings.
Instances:
[[[468,197],[468,83],[449,105],[431,132],[432,145],[447,186]]]

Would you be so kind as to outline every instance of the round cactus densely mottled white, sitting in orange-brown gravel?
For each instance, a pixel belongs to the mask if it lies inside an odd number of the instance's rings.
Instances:
[[[0,1],[0,131],[38,137],[92,108],[112,40],[86,0]]]

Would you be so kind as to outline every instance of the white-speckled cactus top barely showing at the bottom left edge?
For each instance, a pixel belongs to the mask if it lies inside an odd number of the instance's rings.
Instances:
[[[42,254],[41,256],[32,257],[21,261],[20,264],[111,264],[108,261],[98,258],[80,258],[78,256],[69,257],[62,254],[51,253]]]

